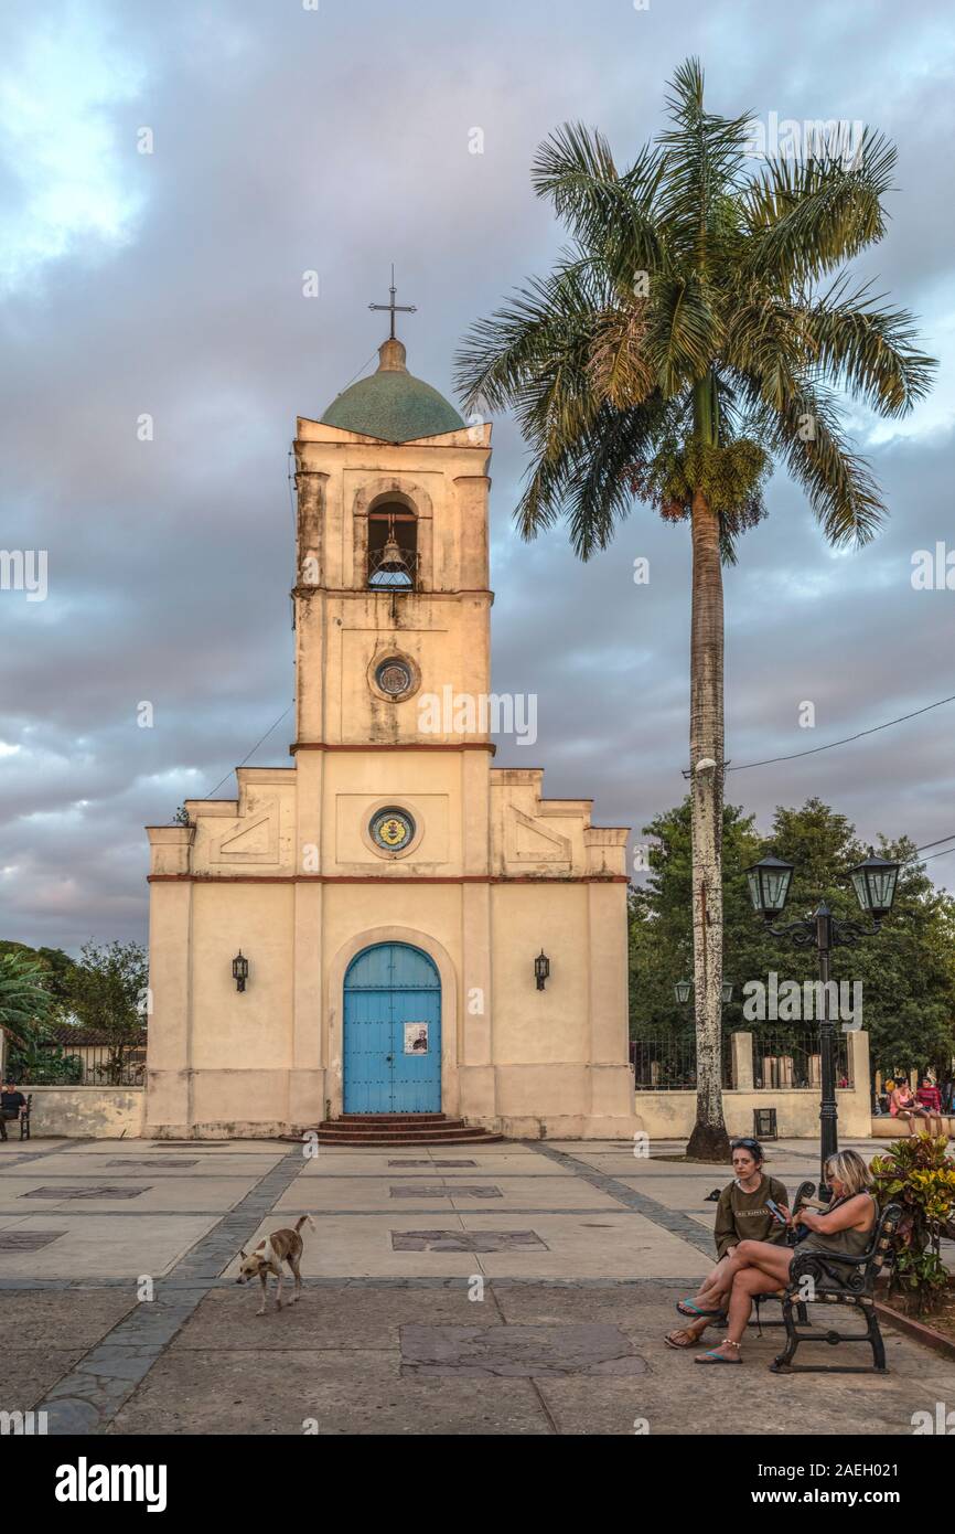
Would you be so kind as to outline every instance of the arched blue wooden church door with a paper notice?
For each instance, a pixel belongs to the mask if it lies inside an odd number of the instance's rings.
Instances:
[[[345,1112],[441,1111],[441,982],[420,948],[376,943],[345,976]]]

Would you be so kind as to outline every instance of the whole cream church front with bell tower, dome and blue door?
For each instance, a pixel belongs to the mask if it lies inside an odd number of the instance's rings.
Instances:
[[[392,337],[294,453],[293,761],[149,827],[146,1134],[632,1135],[627,830],[494,765],[491,426]]]

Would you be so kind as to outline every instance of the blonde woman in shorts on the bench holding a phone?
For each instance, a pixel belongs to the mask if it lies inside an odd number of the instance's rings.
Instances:
[[[771,1241],[740,1241],[730,1256],[730,1321],[717,1348],[697,1353],[696,1364],[739,1364],[740,1345],[756,1295],[770,1295],[789,1282],[789,1266],[797,1252],[834,1252],[861,1256],[872,1239],[877,1204],[869,1184],[872,1174],[855,1150],[829,1157],[825,1177],[832,1200],[825,1215],[800,1209],[793,1224],[809,1232],[797,1247]],[[786,1210],[786,1218],[789,1212]]]

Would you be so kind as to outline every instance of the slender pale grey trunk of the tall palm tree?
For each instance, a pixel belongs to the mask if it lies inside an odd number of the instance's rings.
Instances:
[[[719,515],[693,497],[693,620],[690,635],[690,770],[693,828],[693,980],[696,1002],[696,1124],[687,1155],[727,1161],[722,1100],[724,979],[724,578]],[[713,765],[701,767],[701,762]]]

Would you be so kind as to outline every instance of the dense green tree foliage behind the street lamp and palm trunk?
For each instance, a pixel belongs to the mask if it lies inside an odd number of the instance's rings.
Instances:
[[[691,951],[690,879],[691,808],[656,816],[644,834],[650,877],[630,896],[630,1028],[635,1037],[678,1037],[679,1009],[673,985],[687,977]],[[854,827],[817,798],[800,808],[777,808],[773,828],[760,838],[753,816],[724,808],[724,974],[734,983],[725,1012],[728,1029],[745,1028],[785,1039],[783,1020],[754,1022],[743,1012],[743,986],[766,982],[771,973],[800,985],[817,979],[816,948],[794,948],[776,939],[750,904],[743,870],[773,854],[796,864],[789,904],[782,920],[809,914],[820,900],[837,916],[860,919],[848,881],[866,848]],[[895,905],[875,937],[834,948],[831,977],[861,983],[861,1022],[871,1035],[871,1057],[883,1077],[895,1069],[935,1069],[949,1075],[955,1052],[955,900],[937,890],[907,838],[880,842],[883,856],[901,864]],[[800,1028],[805,1023],[799,1025]]]

